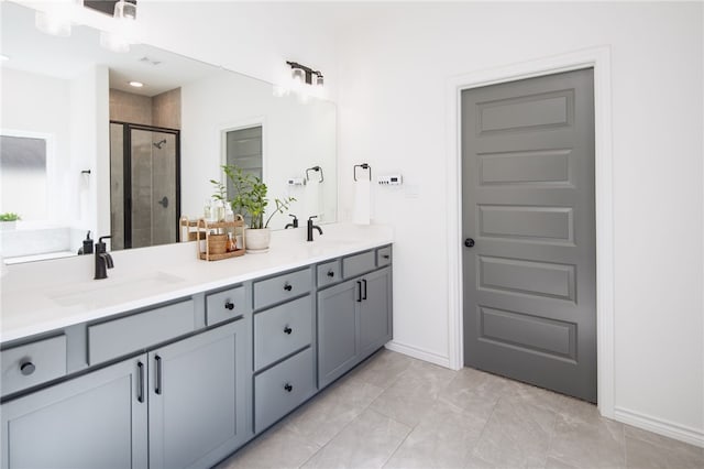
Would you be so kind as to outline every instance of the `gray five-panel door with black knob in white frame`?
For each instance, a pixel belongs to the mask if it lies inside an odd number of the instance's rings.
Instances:
[[[593,70],[462,92],[464,363],[596,402]]]

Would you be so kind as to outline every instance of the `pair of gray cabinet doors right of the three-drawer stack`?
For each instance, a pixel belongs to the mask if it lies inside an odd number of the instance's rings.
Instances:
[[[318,386],[392,339],[391,268],[318,292]]]

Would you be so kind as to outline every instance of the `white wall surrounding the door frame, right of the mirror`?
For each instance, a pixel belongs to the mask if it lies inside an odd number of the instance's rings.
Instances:
[[[608,45],[616,411],[704,445],[702,4],[365,8],[364,34],[350,33],[339,51],[339,167],[344,176],[365,161],[407,183],[373,195],[374,220],[397,239],[395,341],[449,357],[446,80]],[[341,177],[340,200],[344,218],[351,178]]]

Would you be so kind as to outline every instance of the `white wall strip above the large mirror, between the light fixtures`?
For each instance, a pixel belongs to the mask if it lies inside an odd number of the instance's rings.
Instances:
[[[319,69],[324,96],[334,99],[334,24],[320,22],[321,3],[163,1],[139,2],[139,36],[178,52],[270,83],[290,78],[286,61]]]

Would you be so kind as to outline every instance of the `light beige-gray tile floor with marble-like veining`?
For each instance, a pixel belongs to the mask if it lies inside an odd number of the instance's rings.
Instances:
[[[381,350],[218,469],[704,468],[704,449],[594,405]]]

